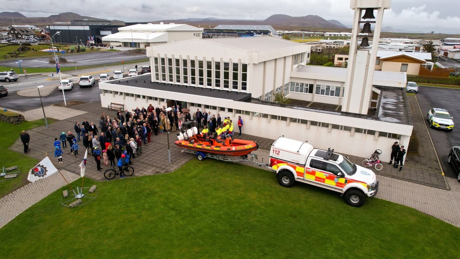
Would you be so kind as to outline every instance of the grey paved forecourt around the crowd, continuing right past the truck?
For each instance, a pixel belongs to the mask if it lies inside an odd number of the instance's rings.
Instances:
[[[47,107],[46,109],[50,108]],[[413,107],[411,106],[411,110],[414,114],[420,114],[420,109],[419,111],[416,111],[415,108],[413,110]],[[44,152],[52,154],[54,151],[52,142],[54,141],[54,138],[57,138],[59,133],[68,132],[69,130],[73,132],[73,125],[75,124],[75,121],[83,121],[84,118],[87,118],[87,120],[90,122],[94,121],[95,124],[98,125],[99,116],[103,111],[107,115],[115,117],[115,111],[108,111],[106,108],[100,107],[100,103],[98,102],[81,104],[72,108],[51,108],[50,115],[47,114],[47,116],[53,116],[53,118],[56,117],[57,119],[60,117],[61,121],[50,124],[49,129],[46,129],[46,127],[42,126],[28,131],[33,140],[33,142],[31,141],[32,144],[30,147],[30,155],[38,160],[41,160],[43,158]],[[25,112],[25,114],[27,113],[28,112]],[[76,115],[72,116],[73,113]],[[35,117],[34,119],[41,118],[41,115],[42,114]],[[33,117],[33,115],[30,116]],[[415,117],[418,118],[418,116]],[[439,169],[437,160],[435,160],[436,158],[431,157],[428,160],[429,163],[424,161],[424,155],[426,155],[426,153],[422,153],[422,151],[429,153],[430,149],[433,149],[433,147],[431,142],[426,139],[426,137],[429,138],[427,135],[428,133],[424,133],[427,132],[426,128],[421,127],[418,124],[420,120],[423,122],[423,118],[420,118],[414,119],[414,129],[421,141],[419,155],[408,154],[406,164],[404,166],[403,172],[401,173],[397,172],[397,169],[393,169],[390,165],[386,164],[384,165],[384,169],[382,171],[376,171],[379,174],[377,178],[381,184],[377,197],[413,207],[417,210],[420,210],[421,212],[430,214],[438,219],[442,219],[450,224],[454,224],[455,226],[460,227],[460,201],[458,199],[458,196],[460,196],[460,185],[457,183],[456,179],[448,178],[447,181],[448,184],[452,187],[452,190],[446,190],[449,188],[446,187],[446,182],[440,173],[441,170]],[[423,134],[426,134],[426,136],[423,136]],[[173,172],[178,167],[182,166],[185,162],[190,161],[191,159],[196,159],[194,155],[181,153],[180,150],[173,144],[173,142],[176,140],[174,133],[170,134],[169,137],[172,162],[168,162],[167,134],[159,136],[153,135],[151,138],[152,143],[149,143],[148,146],[143,146],[143,155],[149,154],[149,157],[155,157],[155,160],[139,160],[138,158],[133,159],[133,166],[135,168],[134,176]],[[260,138],[245,134],[243,134],[241,137],[238,137],[242,139],[256,140],[260,146],[259,150],[256,151],[256,154],[258,155],[257,161],[262,162],[263,159],[264,163],[269,162],[268,150],[270,150],[270,144],[273,142],[272,139]],[[61,169],[75,173],[75,177],[77,178],[79,177],[78,165],[82,160],[82,153],[84,152],[82,144],[80,144],[80,146],[81,152],[77,158],[69,154],[69,148],[63,150],[64,164],[60,165]],[[11,149],[21,152],[22,144],[18,140],[11,146]],[[434,154],[434,152],[431,154]],[[357,164],[361,164],[361,161],[363,160],[362,157],[349,157],[351,158],[351,161]],[[258,165],[253,166],[259,167]],[[103,167],[103,171],[107,168],[109,167]],[[270,170],[270,168],[264,166],[259,168]],[[87,177],[97,181],[105,180],[103,177],[103,171],[98,172],[96,170],[95,162],[91,157],[88,157],[88,164],[86,168]],[[391,176],[392,178],[386,177],[387,175]],[[23,192],[14,192],[9,196],[21,197],[23,195]],[[11,204],[11,206],[15,207],[16,205]]]

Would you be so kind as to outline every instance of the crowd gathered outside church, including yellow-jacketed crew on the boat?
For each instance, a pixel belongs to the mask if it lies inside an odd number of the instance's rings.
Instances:
[[[211,112],[201,112],[200,109],[190,115],[189,109],[183,110],[179,105],[167,109],[165,105],[155,108],[150,104],[147,108],[136,107],[131,111],[119,109],[113,118],[103,112],[98,126],[86,118],[81,124],[76,121],[75,135],[72,131],[67,134],[62,132],[54,139],[54,155],[59,163],[63,163],[63,150],[69,148],[70,153],[77,157],[81,142],[88,155],[94,157],[98,171],[102,171],[101,164],[109,166],[110,162],[110,166],[119,167],[120,176],[124,178],[121,167],[132,164],[132,158],[143,154],[143,146],[152,143],[152,134],[157,136],[165,132],[180,131],[182,124],[187,121],[195,121],[199,129],[203,128],[203,133],[233,134],[233,121],[230,117],[221,120],[219,114],[216,117]],[[237,124],[241,135],[243,123],[240,116]],[[29,141],[26,138],[24,140]],[[24,147],[24,153],[26,152]]]

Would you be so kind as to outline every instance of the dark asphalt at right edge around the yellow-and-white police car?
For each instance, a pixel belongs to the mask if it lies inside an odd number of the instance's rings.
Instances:
[[[454,130],[444,131],[429,128],[429,123],[426,121],[426,126],[430,132],[431,138],[441,161],[441,166],[444,169],[446,177],[456,178],[457,175],[452,166],[447,162],[447,156],[452,146],[460,146],[460,106],[458,100],[460,98],[460,89],[449,89],[442,87],[419,86],[417,100],[422,109],[422,115],[426,118],[428,110],[431,108],[442,108],[449,110],[449,113],[454,117]]]

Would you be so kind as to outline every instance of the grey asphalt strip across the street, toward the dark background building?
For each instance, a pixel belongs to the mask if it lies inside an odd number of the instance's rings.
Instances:
[[[145,54],[124,54],[122,52],[91,52],[87,51],[85,53],[66,53],[66,54],[57,54],[58,57],[64,57],[67,59],[68,63],[59,63],[61,68],[64,67],[75,67],[74,61],[77,66],[89,66],[89,65],[99,65],[99,64],[108,64],[108,63],[121,63],[147,58]],[[52,52],[49,57],[52,57]],[[19,65],[17,59],[7,59],[0,61],[0,66],[11,67],[13,69],[17,68],[19,71]],[[21,62],[21,68],[55,68],[56,64],[49,63],[48,57],[43,58],[24,58]]]

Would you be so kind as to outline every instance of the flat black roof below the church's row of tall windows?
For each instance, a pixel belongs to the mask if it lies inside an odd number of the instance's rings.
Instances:
[[[219,89],[204,88],[201,86],[184,86],[178,84],[168,84],[160,82],[150,82],[150,74],[140,75],[135,77],[125,77],[123,79],[115,79],[107,81],[107,83],[119,86],[132,86],[145,89],[154,89],[166,92],[178,92],[191,95],[201,95],[212,98],[228,99],[233,101],[244,102],[251,99],[251,94],[244,92],[226,91]]]

